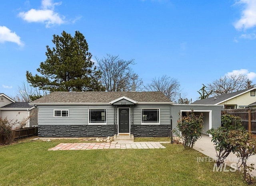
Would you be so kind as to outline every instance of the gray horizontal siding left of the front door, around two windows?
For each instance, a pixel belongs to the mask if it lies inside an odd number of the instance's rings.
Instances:
[[[38,125],[88,125],[88,109],[106,109],[107,125],[114,124],[114,106],[38,106]],[[54,110],[69,110],[69,117],[54,117]]]

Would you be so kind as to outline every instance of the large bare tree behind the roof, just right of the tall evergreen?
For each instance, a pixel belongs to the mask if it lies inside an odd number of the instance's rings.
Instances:
[[[125,61],[117,56],[107,54],[107,57],[98,59],[98,69],[102,72],[101,82],[108,92],[131,91],[132,84],[136,89],[142,87],[142,79],[134,73],[131,65],[134,65],[134,59]]]

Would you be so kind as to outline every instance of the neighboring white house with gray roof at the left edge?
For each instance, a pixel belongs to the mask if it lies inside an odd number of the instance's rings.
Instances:
[[[37,125],[37,109],[28,102],[15,102],[5,94],[0,94],[0,106],[0,117],[16,123],[28,118],[25,127]]]

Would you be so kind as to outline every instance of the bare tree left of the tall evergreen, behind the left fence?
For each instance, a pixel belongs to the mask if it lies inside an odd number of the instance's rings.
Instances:
[[[30,86],[28,83],[22,82],[22,85],[18,86],[16,96],[13,97],[13,100],[16,102],[31,102],[36,98],[45,96],[46,94],[46,90],[40,90],[39,88]]]

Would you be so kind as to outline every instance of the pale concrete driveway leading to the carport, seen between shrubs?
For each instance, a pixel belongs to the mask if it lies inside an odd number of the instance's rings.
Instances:
[[[214,143],[211,140],[212,138],[209,137],[208,135],[202,135],[202,138],[196,141],[193,148],[207,156],[204,158],[200,158],[197,161],[211,161],[212,159],[217,159]],[[210,157],[211,159],[209,159],[208,157]],[[231,166],[232,163],[237,163],[237,161],[238,161],[238,158],[236,157],[236,155],[234,155],[233,153],[230,153],[230,155],[228,155],[224,163],[226,163],[228,166]],[[253,155],[249,158],[247,164],[249,165],[251,163],[254,163],[255,164],[254,168],[256,168],[256,155]],[[226,169],[229,169],[229,168],[226,168]],[[253,176],[256,176],[256,170],[253,170],[251,174]]]

